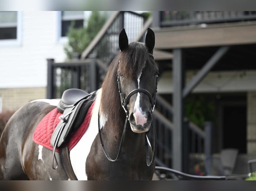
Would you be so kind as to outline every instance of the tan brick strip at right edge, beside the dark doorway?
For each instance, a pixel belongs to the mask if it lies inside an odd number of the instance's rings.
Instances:
[[[247,94],[247,153],[256,153],[256,92]]]

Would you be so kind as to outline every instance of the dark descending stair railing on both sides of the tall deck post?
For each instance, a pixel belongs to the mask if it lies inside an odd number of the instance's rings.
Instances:
[[[159,166],[172,167],[172,132],[174,129],[172,116],[172,106],[160,95],[157,95],[156,107],[153,112],[153,126],[157,130],[156,164]],[[183,131],[183,157],[186,158],[185,163],[188,165],[186,169],[189,171],[191,169],[189,165],[193,164],[192,160],[195,160],[198,155],[204,155],[205,158],[211,156],[212,123],[206,122],[204,130],[202,130],[196,124],[184,118]]]

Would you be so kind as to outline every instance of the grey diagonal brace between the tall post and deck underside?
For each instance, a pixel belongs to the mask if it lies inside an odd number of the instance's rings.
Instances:
[[[204,67],[197,73],[197,75],[185,86],[182,94],[183,98],[185,98],[203,80],[207,73],[223,57],[223,55],[225,55],[228,50],[228,46],[218,49],[218,51],[208,60]]]

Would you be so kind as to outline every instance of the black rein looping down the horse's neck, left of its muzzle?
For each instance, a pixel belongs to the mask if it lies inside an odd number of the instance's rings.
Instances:
[[[98,128],[99,128],[99,137],[100,137],[100,142],[101,142],[101,147],[102,147],[102,150],[104,152],[104,154],[106,155],[107,159],[111,162],[115,162],[119,159],[120,155],[121,155],[121,152],[122,152],[122,147],[123,147],[123,144],[124,144],[124,137],[125,137],[125,132],[126,132],[126,127],[127,127],[127,121],[128,121],[128,116],[126,116],[126,119],[125,119],[125,124],[124,124],[124,130],[123,130],[123,134],[122,134],[122,138],[121,138],[121,142],[120,142],[120,146],[119,146],[119,150],[118,150],[118,153],[117,153],[117,156],[116,156],[116,159],[112,159],[107,150],[105,149],[105,146],[103,144],[103,141],[102,141],[102,136],[101,136],[101,128],[100,128],[100,115],[98,114]]]

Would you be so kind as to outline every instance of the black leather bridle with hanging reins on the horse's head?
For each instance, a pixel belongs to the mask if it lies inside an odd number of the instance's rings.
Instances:
[[[154,60],[154,57],[152,54],[149,54],[150,58],[152,58]],[[117,154],[117,157],[116,159],[112,159],[107,150],[105,149],[105,146],[103,144],[103,141],[102,141],[102,136],[101,136],[101,129],[100,129],[100,116],[98,114],[98,128],[99,128],[99,137],[100,137],[100,143],[101,143],[101,147],[103,149],[103,152],[104,154],[106,155],[107,159],[109,161],[112,161],[112,162],[115,162],[119,159],[120,157],[120,154],[121,154],[121,151],[122,151],[122,147],[123,147],[123,143],[124,143],[124,137],[125,137],[125,132],[126,132],[126,127],[127,127],[127,121],[129,120],[129,112],[128,112],[128,109],[127,109],[127,104],[129,103],[129,100],[131,98],[132,95],[136,94],[136,93],[144,93],[148,96],[149,100],[150,100],[150,103],[151,103],[151,110],[150,112],[152,113],[154,111],[154,108],[155,108],[155,99],[156,99],[156,93],[157,93],[157,82],[158,82],[158,75],[156,75],[156,79],[155,79],[155,92],[154,92],[154,95],[152,96],[147,90],[145,89],[135,89],[133,91],[131,91],[126,97],[124,96],[123,94],[123,91],[122,91],[122,87],[121,87],[121,84],[120,84],[120,76],[118,75],[117,76],[117,84],[118,84],[118,91],[119,91],[119,95],[120,95],[120,98],[121,98],[121,104],[122,104],[122,107],[126,113],[126,119],[125,119],[125,124],[124,124],[124,130],[123,130],[123,133],[122,133],[122,138],[121,138],[121,142],[120,142],[120,146],[119,146],[119,150],[118,150],[118,154]],[[146,161],[147,161],[147,166],[151,166],[152,165],[152,162],[154,161],[155,159],[155,151],[156,151],[156,130],[155,128],[153,128],[152,124],[151,126],[152,129],[153,129],[153,133],[154,133],[154,150],[153,150],[153,156],[152,156],[152,159],[150,161],[150,157],[149,157],[149,145],[148,145],[148,138],[147,138],[147,135],[146,135],[146,132],[144,133],[144,137],[145,137],[145,147],[146,147]]]

